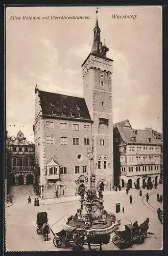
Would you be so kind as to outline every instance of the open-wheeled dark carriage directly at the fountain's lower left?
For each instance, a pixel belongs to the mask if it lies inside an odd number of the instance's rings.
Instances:
[[[83,230],[77,230],[76,227],[67,227],[58,233],[54,233],[51,229],[54,239],[53,243],[56,247],[73,246],[74,250],[81,250],[84,245],[85,234]]]

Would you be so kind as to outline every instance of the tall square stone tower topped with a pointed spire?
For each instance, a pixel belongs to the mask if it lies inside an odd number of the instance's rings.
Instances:
[[[98,13],[98,11],[97,11]],[[98,16],[93,29],[91,52],[82,64],[84,98],[92,124],[94,173],[97,190],[113,186],[112,63],[101,42]]]

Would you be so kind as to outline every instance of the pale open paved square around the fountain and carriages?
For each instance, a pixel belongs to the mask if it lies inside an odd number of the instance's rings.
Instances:
[[[146,193],[149,193],[149,204],[146,202]],[[150,219],[147,238],[143,244],[133,244],[127,250],[157,250],[162,248],[162,225],[157,219],[156,210],[154,208],[162,208],[162,204],[157,202],[157,193],[162,194],[162,187],[157,189],[147,190],[142,189],[142,197],[139,196],[139,191],[131,189],[126,195],[125,191],[116,192],[112,195],[104,197],[104,207],[109,212],[115,212],[115,204],[121,203],[121,212],[117,216],[122,220],[119,229],[124,229],[123,224],[133,224],[138,221],[138,224]],[[130,204],[129,196],[132,195],[133,203]],[[64,219],[65,216],[74,212],[79,201],[63,202],[59,204],[45,205],[40,202],[40,206],[34,207],[34,198],[32,204],[27,203],[27,196],[22,196],[19,200],[13,202],[13,205],[6,208],[6,250],[7,251],[57,251],[57,250],[72,250],[68,248],[56,248],[53,244],[53,234],[50,232],[49,241],[44,242],[43,237],[37,234],[36,231],[36,216],[39,211],[46,211],[49,218],[49,225],[53,226],[58,220]],[[122,208],[125,212],[122,212]],[[154,207],[154,208],[153,208]],[[60,223],[59,223],[60,225]],[[111,239],[114,233],[111,234]],[[20,243],[21,241],[21,243]],[[84,246],[83,250],[87,250]],[[99,249],[99,247],[96,247]],[[119,250],[113,243],[102,246],[103,250]]]

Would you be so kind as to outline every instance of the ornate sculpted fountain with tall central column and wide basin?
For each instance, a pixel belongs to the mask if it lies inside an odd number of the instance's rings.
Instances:
[[[65,219],[65,228],[75,226],[79,230],[84,230],[88,243],[105,244],[109,242],[110,236],[115,229],[118,229],[120,220],[107,212],[103,205],[102,191],[96,191],[95,174],[93,163],[93,148],[88,151],[89,159],[89,179],[88,190],[80,191],[80,206],[74,215]]]

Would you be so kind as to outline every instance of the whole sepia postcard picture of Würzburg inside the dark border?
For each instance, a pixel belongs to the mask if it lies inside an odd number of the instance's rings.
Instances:
[[[162,7],[7,7],[5,44],[5,251],[162,250]]]

